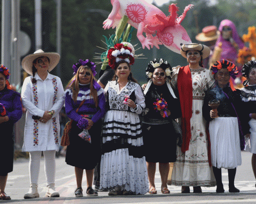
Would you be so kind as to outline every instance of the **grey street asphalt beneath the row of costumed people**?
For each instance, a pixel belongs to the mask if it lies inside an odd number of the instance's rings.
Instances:
[[[159,203],[159,204],[185,204],[185,203],[256,203],[255,179],[251,167],[250,152],[242,151],[242,165],[237,168],[235,185],[241,190],[240,193],[228,192],[228,173],[222,169],[222,180],[225,193],[216,193],[215,187],[202,187],[203,193],[180,193],[181,186],[169,185],[170,194],[161,193],[161,178],[157,169],[155,182],[157,194],[149,193],[143,196],[108,196],[108,192],[99,192],[98,197],[86,197],[86,176],[84,174],[82,187],[84,197],[75,198],[76,179],[74,167],[65,163],[64,157],[57,158],[55,187],[60,193],[60,198],[45,198],[46,182],[44,174],[44,160],[41,159],[41,171],[38,181],[38,192],[40,198],[23,199],[24,194],[29,189],[28,159],[19,158],[14,161],[13,172],[7,179],[5,192],[11,196],[10,201],[1,201],[1,203]]]

